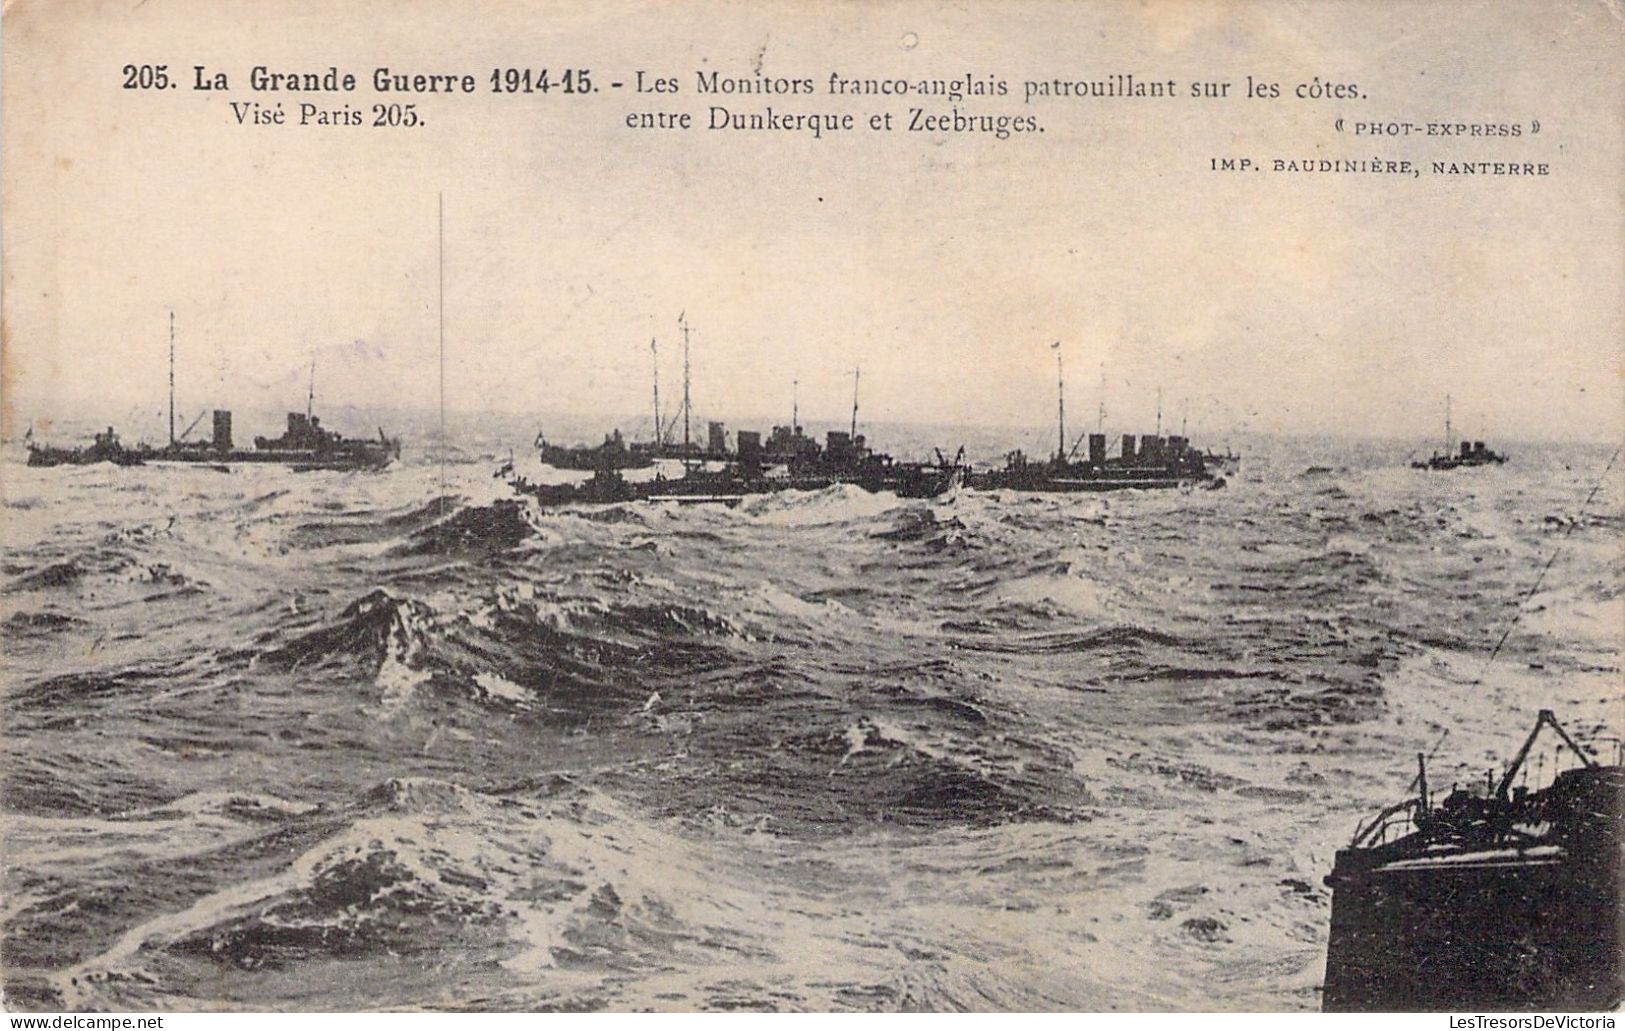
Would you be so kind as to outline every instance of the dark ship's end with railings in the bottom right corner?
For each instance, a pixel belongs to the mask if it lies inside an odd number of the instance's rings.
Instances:
[[[1544,727],[1578,766],[1536,790]],[[1617,743],[1615,743],[1617,745]],[[1498,784],[1417,795],[1341,849],[1326,948],[1328,1011],[1610,1010],[1625,998],[1620,909],[1625,766],[1597,763],[1549,709]]]

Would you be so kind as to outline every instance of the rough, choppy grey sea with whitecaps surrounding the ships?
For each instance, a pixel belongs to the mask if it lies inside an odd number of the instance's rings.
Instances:
[[[8,447],[6,1007],[1310,1010],[1321,878],[1419,751],[1441,790],[1542,707],[1620,733],[1610,447],[535,511],[491,475],[531,434],[444,481],[422,434]]]

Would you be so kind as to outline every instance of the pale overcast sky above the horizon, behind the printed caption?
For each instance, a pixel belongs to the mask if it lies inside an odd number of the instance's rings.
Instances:
[[[452,408],[644,411],[652,337],[696,405],[1043,424],[1068,405],[1193,434],[1625,434],[1625,63],[1602,3],[15,3],[5,20],[5,332],[21,418],[164,397],[190,408],[434,405],[437,195]],[[335,13],[343,8],[343,13]],[[401,11],[416,11],[408,15]],[[817,13],[814,13],[817,11]],[[231,75],[120,89],[120,67]],[[894,111],[899,132],[635,132],[715,98],[696,72],[809,76],[731,111]],[[249,68],[470,72],[413,130],[239,127]],[[492,67],[592,68],[601,93],[492,96]],[[609,91],[642,68],[676,98]],[[822,93],[830,72],[1003,76],[1004,141],[900,132],[942,101]],[[1228,80],[1222,101],[1024,104],[1025,78]],[[1253,75],[1280,101],[1240,96]],[[1292,98],[1357,83],[1363,99]],[[369,112],[370,89],[318,96]],[[366,115],[370,122],[370,114]],[[1346,120],[1346,132],[1334,128]],[[1355,120],[1518,122],[1492,140],[1363,138]],[[1531,122],[1540,132],[1531,133]],[[1212,172],[1211,158],[1384,156],[1420,179]],[[1433,159],[1537,161],[1446,177]],[[608,426],[606,426],[608,428]],[[13,428],[15,429],[15,428]],[[11,431],[11,429],[8,429]]]

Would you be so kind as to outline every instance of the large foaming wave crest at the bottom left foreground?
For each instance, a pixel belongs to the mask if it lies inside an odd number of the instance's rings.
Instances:
[[[231,846],[281,850],[280,867],[154,914],[52,977],[62,1003],[128,1005],[159,981],[182,997],[185,985],[216,992],[219,968],[275,977],[401,956],[502,969],[515,985],[552,971],[569,992],[577,974],[754,951],[748,917],[715,901],[707,860],[595,792],[520,800],[398,777],[301,821],[317,836],[284,828]]]

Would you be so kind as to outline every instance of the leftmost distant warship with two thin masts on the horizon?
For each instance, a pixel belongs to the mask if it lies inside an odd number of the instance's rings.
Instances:
[[[231,465],[288,465],[294,470],[377,470],[400,457],[400,439],[385,436],[379,428],[379,437],[344,437],[322,426],[322,420],[314,413],[315,407],[315,363],[310,363],[310,390],[306,397],[304,411],[288,413],[288,428],[278,437],[255,437],[254,447],[236,447],[231,436],[231,411],[216,408],[213,411],[213,436],[208,441],[188,441],[192,429],[203,420],[202,415],[192,420],[179,436],[176,434],[176,315],[169,315],[169,442],[162,447],[136,444],[125,447],[112,426],[106,433],[96,434],[96,441],[86,447],[57,447],[28,442],[29,465],[89,465],[93,462],[112,462],[115,465],[148,465],[148,463],[197,463],[210,467]]]

